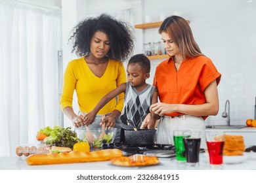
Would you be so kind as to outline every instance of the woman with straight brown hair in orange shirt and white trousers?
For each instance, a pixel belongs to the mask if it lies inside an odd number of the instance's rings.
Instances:
[[[158,65],[154,76],[160,102],[150,110],[162,116],[157,142],[174,144],[175,129],[202,131],[201,146],[205,148],[204,120],[219,111],[217,85],[221,74],[200,51],[184,18],[166,18],[159,33],[170,57]],[[154,126],[147,122],[144,120],[142,128]]]

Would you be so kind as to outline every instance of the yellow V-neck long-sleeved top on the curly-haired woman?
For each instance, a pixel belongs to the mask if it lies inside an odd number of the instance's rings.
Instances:
[[[60,107],[72,107],[74,90],[82,112],[90,112],[104,95],[126,82],[126,73],[121,61],[109,59],[104,75],[95,76],[84,58],[74,59],[68,63],[64,73],[64,85],[60,97]],[[107,114],[114,109],[123,109],[124,93],[118,95],[118,102],[112,99],[98,114]]]

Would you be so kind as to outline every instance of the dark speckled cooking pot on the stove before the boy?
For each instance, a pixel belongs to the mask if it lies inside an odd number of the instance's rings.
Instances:
[[[125,141],[131,145],[152,145],[156,138],[156,129],[124,129]]]

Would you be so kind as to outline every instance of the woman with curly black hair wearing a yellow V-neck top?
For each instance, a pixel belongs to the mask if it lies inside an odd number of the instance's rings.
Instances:
[[[60,107],[76,128],[101,127],[100,122],[108,128],[117,127],[117,142],[121,129],[117,119],[123,109],[124,93],[101,108],[91,124],[85,125],[85,114],[93,110],[104,95],[127,82],[123,61],[133,54],[131,28],[125,22],[101,14],[79,22],[70,41],[74,43],[72,52],[79,58],[70,61],[66,67]],[[74,90],[79,114],[72,107]]]

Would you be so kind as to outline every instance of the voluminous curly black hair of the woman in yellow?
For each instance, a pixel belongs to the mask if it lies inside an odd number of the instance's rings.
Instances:
[[[110,39],[108,58],[125,61],[133,53],[134,36],[131,27],[108,14],[86,18],[74,27],[74,33],[69,39],[74,42],[72,53],[75,51],[77,56],[87,56],[90,53],[91,39],[96,31],[106,33]]]

